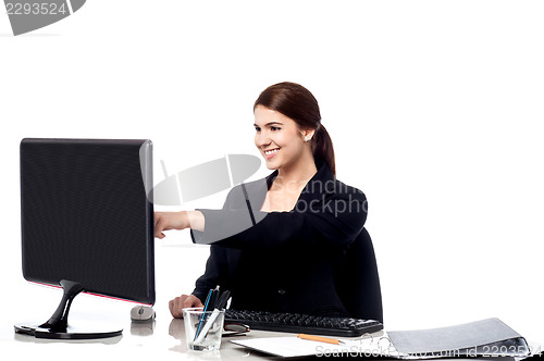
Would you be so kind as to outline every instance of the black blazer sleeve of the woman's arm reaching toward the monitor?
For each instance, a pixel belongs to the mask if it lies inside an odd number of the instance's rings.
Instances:
[[[255,225],[247,208],[200,210],[206,219],[205,232],[191,232],[193,241],[250,250],[295,245],[336,246],[351,241],[367,219],[364,194],[348,187],[344,191],[319,196],[299,201],[289,212],[254,210]],[[235,194],[227,201],[234,202],[234,197]]]

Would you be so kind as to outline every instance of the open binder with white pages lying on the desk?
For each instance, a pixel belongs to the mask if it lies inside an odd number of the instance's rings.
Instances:
[[[526,339],[498,319],[432,329],[382,331],[359,338],[338,340],[339,345],[332,345],[293,335],[231,343],[283,358],[324,356],[416,360],[466,356],[522,359],[531,354]]]

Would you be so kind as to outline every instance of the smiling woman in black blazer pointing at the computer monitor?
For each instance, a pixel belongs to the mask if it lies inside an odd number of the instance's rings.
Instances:
[[[171,300],[171,313],[202,307],[220,285],[233,309],[347,316],[338,283],[366,197],[335,179],[333,145],[305,87],[267,88],[254,113],[255,145],[274,172],[233,188],[222,210],[156,213],[158,238],[190,227],[193,241],[212,245],[195,290]]]

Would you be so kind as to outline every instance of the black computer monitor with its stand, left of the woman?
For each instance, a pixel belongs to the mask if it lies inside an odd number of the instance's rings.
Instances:
[[[15,325],[16,333],[44,338],[120,335],[122,329],[72,327],[67,313],[79,291],[154,303],[150,185],[150,140],[22,140],[23,275],[61,286],[64,295],[49,321]]]

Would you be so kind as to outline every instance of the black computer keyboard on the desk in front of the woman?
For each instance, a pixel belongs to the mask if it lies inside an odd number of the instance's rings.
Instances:
[[[232,309],[225,311],[225,323],[228,322],[242,323],[254,329],[341,337],[358,337],[383,328],[374,320]]]

